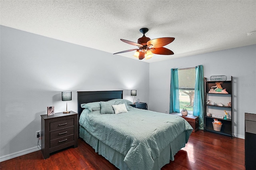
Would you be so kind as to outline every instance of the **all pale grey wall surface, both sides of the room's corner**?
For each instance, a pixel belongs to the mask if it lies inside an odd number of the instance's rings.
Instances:
[[[144,63],[104,51],[0,26],[0,161],[36,148],[40,115],[66,109],[61,91],[136,89],[153,111],[169,111],[170,69],[204,65],[204,76],[234,76],[234,134],[244,138],[244,112],[256,112],[256,45]],[[150,93],[149,93],[150,92]]]

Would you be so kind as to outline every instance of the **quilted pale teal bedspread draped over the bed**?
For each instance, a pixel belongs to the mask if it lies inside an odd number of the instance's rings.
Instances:
[[[130,107],[128,113],[104,114],[84,109],[79,123],[90,134],[125,156],[130,169],[152,169],[154,159],[179,134],[186,142],[193,130],[182,117]]]

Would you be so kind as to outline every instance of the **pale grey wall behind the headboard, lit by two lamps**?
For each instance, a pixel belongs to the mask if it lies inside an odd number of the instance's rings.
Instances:
[[[137,59],[0,27],[0,160],[36,148],[36,131],[46,107],[66,110],[61,91],[72,91],[68,109],[77,111],[77,91],[136,89],[148,102],[149,64]],[[22,153],[21,153],[22,154]]]

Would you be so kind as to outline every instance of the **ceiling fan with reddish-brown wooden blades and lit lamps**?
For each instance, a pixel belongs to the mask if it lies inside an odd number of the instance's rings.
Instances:
[[[120,51],[114,54],[126,53],[126,52],[136,50],[133,56],[138,59],[144,59],[144,58],[150,59],[153,56],[153,53],[160,54],[160,55],[174,54],[170,49],[167,49],[163,46],[173,42],[175,38],[164,37],[164,38],[156,38],[156,39],[150,40],[150,38],[145,36],[145,34],[148,32],[148,28],[141,28],[140,32],[143,34],[143,36],[138,39],[138,43],[120,39],[122,42],[128,43],[130,45],[136,45],[137,47],[139,47],[138,49],[137,48],[128,49],[128,50]]]

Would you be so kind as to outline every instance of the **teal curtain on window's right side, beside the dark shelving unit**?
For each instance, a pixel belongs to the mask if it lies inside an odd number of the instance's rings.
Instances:
[[[203,65],[196,67],[196,85],[193,115],[198,116],[199,129],[204,129],[204,69]]]

